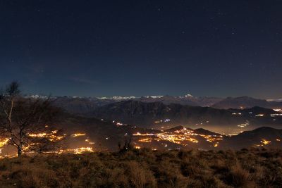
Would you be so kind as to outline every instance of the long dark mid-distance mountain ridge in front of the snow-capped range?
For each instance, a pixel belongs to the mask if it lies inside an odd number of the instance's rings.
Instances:
[[[154,127],[164,124],[238,125],[245,122],[245,120],[252,120],[258,125],[281,123],[281,118],[279,117],[276,118],[276,122],[272,120],[272,113],[276,112],[260,107],[243,110],[222,110],[209,107],[183,106],[180,104],[166,105],[161,102],[121,101],[96,108],[92,115],[97,118],[117,120],[125,124],[141,127]],[[257,118],[257,114],[264,114],[264,117]]]

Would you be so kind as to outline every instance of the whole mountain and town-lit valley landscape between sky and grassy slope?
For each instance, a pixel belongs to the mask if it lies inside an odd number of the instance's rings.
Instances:
[[[47,99],[46,96],[26,96]],[[116,150],[131,139],[152,149],[281,148],[282,102],[248,96],[51,97],[63,108],[58,127],[71,148],[95,143],[96,150]],[[276,128],[274,128],[276,127]],[[232,136],[231,136],[232,134]],[[235,135],[233,135],[235,134]],[[86,144],[86,145],[85,145]]]

